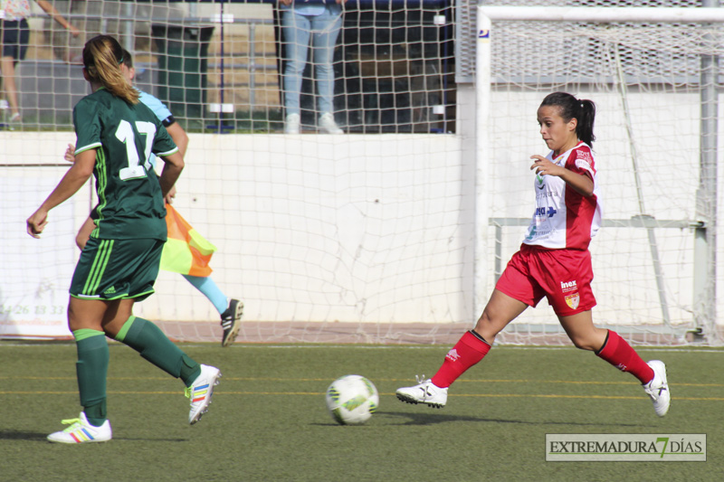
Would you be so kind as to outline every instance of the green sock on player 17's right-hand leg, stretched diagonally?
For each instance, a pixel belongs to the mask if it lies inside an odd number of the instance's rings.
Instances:
[[[182,352],[158,326],[147,319],[129,317],[120,328],[116,340],[129,345],[164,372],[180,378],[186,386],[191,386],[201,373],[201,365]]]

